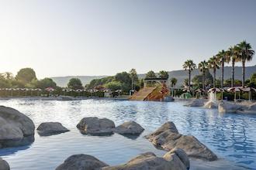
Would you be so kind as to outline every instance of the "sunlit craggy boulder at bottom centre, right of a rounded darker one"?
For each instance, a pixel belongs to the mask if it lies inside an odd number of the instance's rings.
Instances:
[[[185,165],[177,155],[171,155],[169,158],[160,158],[152,152],[147,152],[132,158],[123,165],[103,167],[102,170],[186,170]]]

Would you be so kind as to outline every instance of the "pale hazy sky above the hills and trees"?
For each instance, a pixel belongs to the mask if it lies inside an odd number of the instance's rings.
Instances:
[[[0,72],[179,70],[244,39],[256,49],[255,8],[255,0],[0,0]],[[255,64],[256,56],[247,63]]]

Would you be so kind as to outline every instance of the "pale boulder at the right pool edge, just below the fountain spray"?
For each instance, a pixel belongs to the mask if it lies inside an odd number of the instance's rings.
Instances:
[[[222,102],[219,104],[218,110],[219,110],[219,113],[221,114],[237,113],[244,110],[244,107],[240,104]]]

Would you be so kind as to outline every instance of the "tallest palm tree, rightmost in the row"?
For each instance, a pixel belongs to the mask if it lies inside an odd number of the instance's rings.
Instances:
[[[251,61],[251,59],[253,58],[255,52],[251,48],[251,44],[247,43],[246,41],[240,42],[237,46],[239,48],[239,56],[238,56],[238,58],[240,59],[240,61],[242,61],[242,66],[243,66],[242,86],[244,87],[245,62],[246,61]]]

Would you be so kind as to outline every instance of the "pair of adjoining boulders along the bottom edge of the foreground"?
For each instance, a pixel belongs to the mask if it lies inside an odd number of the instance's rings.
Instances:
[[[162,158],[152,152],[147,152],[132,158],[123,165],[109,166],[91,155],[72,155],[56,170],[78,170],[78,169],[102,169],[102,170],[187,170],[189,169],[189,158],[182,149],[174,149],[166,153]]]

